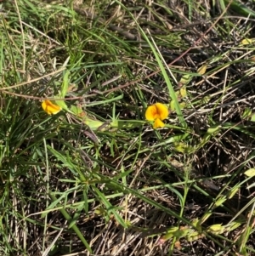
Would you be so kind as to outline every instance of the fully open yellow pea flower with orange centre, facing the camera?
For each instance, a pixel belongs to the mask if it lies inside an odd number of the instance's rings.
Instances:
[[[163,128],[165,123],[162,122],[168,117],[167,105],[156,103],[147,107],[145,111],[146,120],[153,122],[153,128]]]

